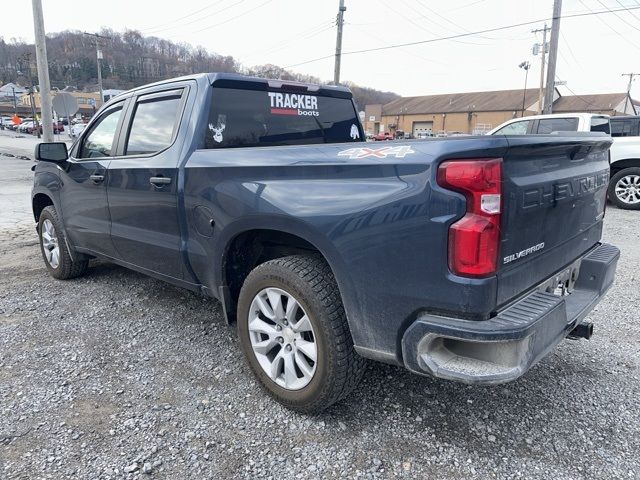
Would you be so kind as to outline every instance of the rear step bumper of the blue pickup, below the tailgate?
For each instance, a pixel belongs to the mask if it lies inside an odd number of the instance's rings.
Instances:
[[[534,291],[485,321],[423,314],[402,337],[405,366],[464,383],[523,375],[589,314],[613,283],[620,251],[601,244],[579,262],[570,295]]]

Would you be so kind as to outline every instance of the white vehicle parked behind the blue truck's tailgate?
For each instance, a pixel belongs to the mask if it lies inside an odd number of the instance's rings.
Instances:
[[[640,210],[640,117],[609,117],[593,113],[557,113],[517,118],[499,125],[489,135],[603,132],[613,136],[607,196],[619,208]],[[615,132],[614,132],[615,130]]]

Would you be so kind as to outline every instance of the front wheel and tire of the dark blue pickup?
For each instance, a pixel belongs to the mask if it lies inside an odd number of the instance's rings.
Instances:
[[[68,280],[84,274],[89,261],[84,258],[75,261],[71,259],[62,223],[54,207],[45,207],[40,213],[38,233],[40,252],[44,264],[53,278]]]

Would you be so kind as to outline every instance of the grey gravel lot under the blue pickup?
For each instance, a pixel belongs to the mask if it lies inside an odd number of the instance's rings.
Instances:
[[[607,212],[592,340],[498,387],[372,364],[316,417],[260,390],[216,301],[102,262],[53,280],[4,225],[0,478],[640,478],[639,215]]]

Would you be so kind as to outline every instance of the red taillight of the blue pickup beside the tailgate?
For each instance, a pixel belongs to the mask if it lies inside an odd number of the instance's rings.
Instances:
[[[443,162],[438,184],[467,198],[467,213],[449,228],[449,269],[465,277],[493,275],[500,244],[502,159]]]

